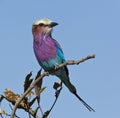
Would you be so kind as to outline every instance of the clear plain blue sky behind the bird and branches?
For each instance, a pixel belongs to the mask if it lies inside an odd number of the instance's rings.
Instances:
[[[31,27],[35,20],[47,17],[59,23],[53,37],[62,45],[66,60],[96,54],[95,59],[68,67],[78,94],[96,112],[87,111],[64,86],[49,118],[120,117],[119,6],[119,0],[0,0],[0,93],[5,88],[22,93],[26,74],[33,71],[34,77],[39,70]],[[54,81],[57,77],[44,79],[44,111],[54,99]],[[27,115],[23,111],[18,114]]]

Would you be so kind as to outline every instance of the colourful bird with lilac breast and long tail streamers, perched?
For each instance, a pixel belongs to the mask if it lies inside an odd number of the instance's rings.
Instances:
[[[66,62],[60,44],[52,37],[53,27],[57,25],[57,22],[53,22],[48,18],[36,20],[32,24],[33,50],[39,65],[45,71],[50,71],[54,67]],[[67,66],[51,74],[57,76],[89,111],[95,111],[77,94],[75,86],[70,82]]]

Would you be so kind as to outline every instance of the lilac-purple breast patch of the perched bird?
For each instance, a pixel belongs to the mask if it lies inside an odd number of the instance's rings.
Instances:
[[[34,38],[34,52],[37,60],[42,62],[53,59],[56,55],[54,40],[50,36],[36,36]]]

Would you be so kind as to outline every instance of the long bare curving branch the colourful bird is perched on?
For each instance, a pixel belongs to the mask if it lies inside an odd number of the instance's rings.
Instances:
[[[74,64],[77,64],[77,65],[78,65],[78,64],[80,64],[80,63],[82,63],[82,62],[84,62],[84,61],[86,61],[86,60],[88,60],[88,59],[92,59],[92,58],[95,58],[95,55],[89,55],[89,56],[87,56],[87,57],[85,57],[85,58],[82,58],[82,59],[80,59],[80,60],[77,60],[77,61],[69,60],[69,61],[66,61],[66,62],[63,63],[63,64],[60,64],[60,65],[56,66],[56,67],[55,67],[54,69],[52,69],[51,71],[53,72],[53,71],[59,70],[61,67],[66,66],[66,65],[74,65]],[[44,72],[41,76],[39,76],[36,80],[34,80],[34,82],[32,83],[32,85],[25,91],[25,93],[24,93],[24,94],[20,97],[20,99],[16,102],[16,104],[15,104],[13,110],[12,110],[12,113],[11,113],[11,117],[10,117],[10,118],[14,118],[15,112],[16,112],[19,104],[21,103],[21,101],[25,98],[25,96],[35,87],[35,85],[36,85],[41,79],[43,79],[45,76],[49,75],[49,73],[50,73],[51,71],[49,71],[49,72],[48,72],[48,71]],[[37,117],[37,118],[39,118],[39,117]]]

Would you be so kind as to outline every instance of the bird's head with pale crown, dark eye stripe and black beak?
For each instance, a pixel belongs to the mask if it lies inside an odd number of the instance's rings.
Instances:
[[[45,35],[51,34],[51,31],[54,26],[58,25],[58,23],[51,21],[50,19],[43,18],[37,20],[32,25],[32,33],[36,35],[37,33],[43,33]]]

